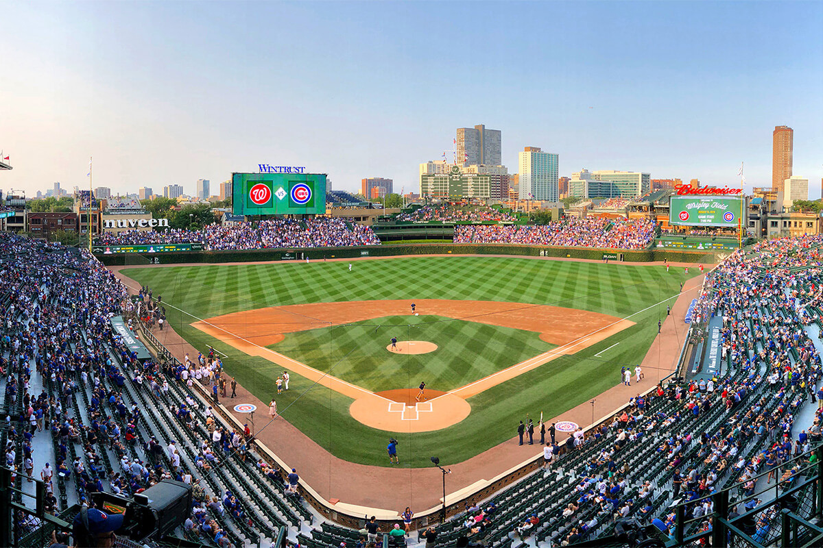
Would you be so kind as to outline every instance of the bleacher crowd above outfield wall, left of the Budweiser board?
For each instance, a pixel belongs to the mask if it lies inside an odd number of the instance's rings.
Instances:
[[[650,219],[576,218],[548,224],[454,228],[455,243],[522,243],[536,246],[580,246],[645,249],[654,237]]]

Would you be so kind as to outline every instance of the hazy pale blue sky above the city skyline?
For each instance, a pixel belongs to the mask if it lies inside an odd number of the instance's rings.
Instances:
[[[560,174],[771,184],[771,133],[820,195],[823,2],[2,2],[0,189],[113,191],[305,165],[391,177],[457,127]],[[449,154],[451,160],[451,154]]]

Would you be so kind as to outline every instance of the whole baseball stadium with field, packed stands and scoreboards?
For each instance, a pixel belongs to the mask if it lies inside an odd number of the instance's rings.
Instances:
[[[369,223],[323,174],[233,181],[202,228],[89,193],[88,249],[0,233],[3,545],[823,535],[820,236],[723,189]]]

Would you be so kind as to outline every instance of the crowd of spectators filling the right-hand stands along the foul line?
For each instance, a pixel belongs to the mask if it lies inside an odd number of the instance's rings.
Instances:
[[[586,434],[579,430],[560,444],[552,435],[539,484],[554,494],[543,503],[550,511],[524,506],[507,521],[509,536],[540,533],[551,535],[553,546],[567,546],[613,531],[621,518],[673,535],[677,504],[686,504],[692,520],[686,534],[710,532],[717,509],[705,497],[737,485],[723,517],[752,512],[751,521],[738,526],[763,545],[778,538],[779,507],[764,504],[760,494],[799,481],[815,458],[808,452],[823,442],[821,355],[814,341],[823,339],[821,247],[823,236],[762,242],[711,270],[695,315],[718,324],[723,371],[653,385]],[[813,405],[813,417],[797,424],[804,404]],[[554,477],[557,467],[562,473]],[[570,473],[577,477],[571,488]],[[777,481],[779,488],[770,487]],[[498,501],[502,513],[520,500],[501,497],[508,501]],[[474,541],[494,540],[474,526],[476,513],[468,510],[449,527]],[[543,527],[546,522],[551,526]]]

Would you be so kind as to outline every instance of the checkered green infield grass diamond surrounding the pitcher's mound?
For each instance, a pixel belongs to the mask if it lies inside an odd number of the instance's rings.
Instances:
[[[392,337],[428,341],[438,348],[418,355],[389,352]],[[421,380],[430,389],[448,392],[556,345],[523,329],[403,315],[290,333],[268,348],[372,392],[411,388]]]

